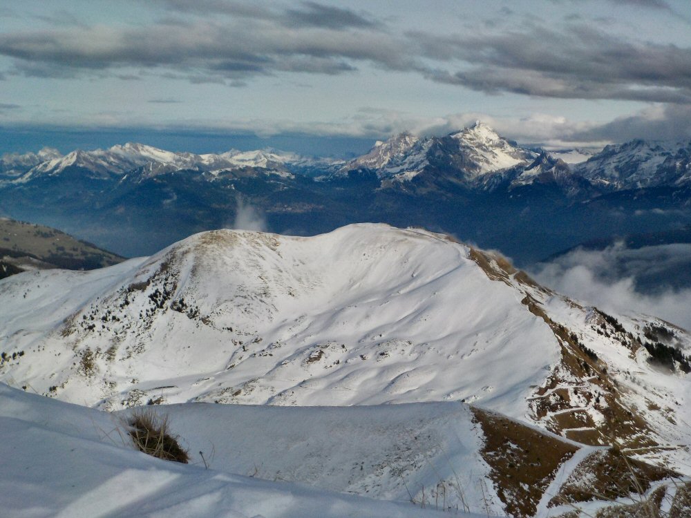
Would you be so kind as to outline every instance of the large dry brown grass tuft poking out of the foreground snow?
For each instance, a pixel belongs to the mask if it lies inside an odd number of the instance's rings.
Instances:
[[[141,452],[165,461],[189,462],[189,454],[178,443],[178,436],[170,433],[167,415],[159,415],[153,408],[141,408],[133,412],[128,424],[132,427],[130,437]]]

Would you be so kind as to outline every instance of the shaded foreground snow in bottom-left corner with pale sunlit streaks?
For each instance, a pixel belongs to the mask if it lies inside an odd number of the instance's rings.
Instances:
[[[207,419],[198,422],[198,431]],[[2,384],[0,434],[0,508],[6,518],[439,515],[405,501],[343,495],[153,459],[133,449],[123,423],[112,414]]]

